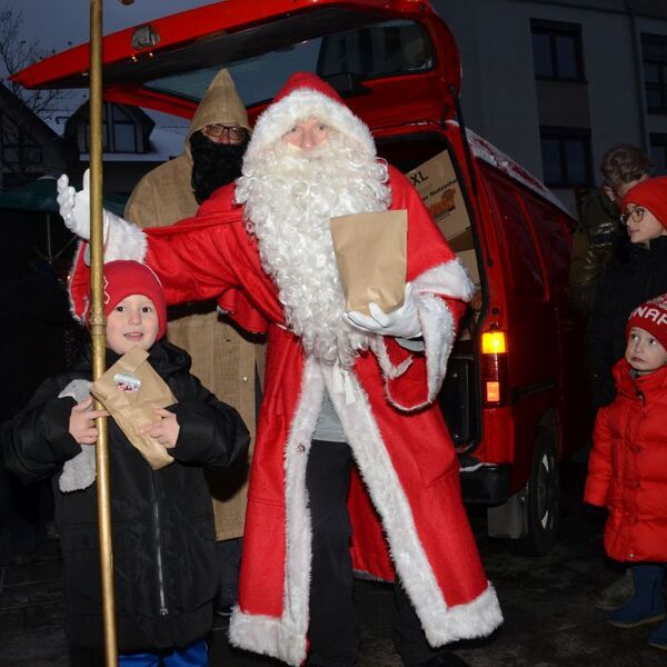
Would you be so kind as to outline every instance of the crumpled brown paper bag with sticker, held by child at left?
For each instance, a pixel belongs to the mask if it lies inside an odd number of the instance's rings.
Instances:
[[[151,468],[158,470],[172,462],[173,457],[148,434],[139,431],[156,421],[155,408],[178,401],[147,359],[148,352],[135,346],[92,384],[90,394],[104,406]]]

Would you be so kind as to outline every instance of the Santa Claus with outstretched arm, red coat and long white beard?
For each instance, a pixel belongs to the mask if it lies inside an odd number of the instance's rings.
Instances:
[[[86,238],[87,192],[59,187]],[[401,209],[404,305],[346,312],[330,219]],[[397,581],[404,664],[465,664],[441,647],[501,623],[434,404],[471,283],[368,128],[330,86],[295,74],[259,117],[236,187],[172,227],[104,219],[107,260],[145,260],[169,302],[217,297],[239,325],[268,330],[231,641],[290,665],[354,665],[361,570]]]

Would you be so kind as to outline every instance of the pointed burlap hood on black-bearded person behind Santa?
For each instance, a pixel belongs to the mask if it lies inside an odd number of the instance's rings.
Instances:
[[[190,159],[192,158],[190,137],[207,125],[215,123],[240,126],[250,131],[246,107],[237,92],[231,74],[226,69],[216,74],[190,122],[186,139],[186,152]]]

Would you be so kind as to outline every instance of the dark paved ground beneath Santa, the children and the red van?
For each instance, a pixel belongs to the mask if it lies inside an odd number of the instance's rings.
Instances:
[[[544,558],[520,558],[484,535],[481,516],[471,521],[489,578],[496,585],[505,624],[479,644],[457,650],[471,667],[665,667],[667,653],[646,644],[649,628],[608,626],[594,606],[614,581],[601,554],[599,521],[581,511],[583,464],[563,469],[564,525],[557,548]],[[390,640],[391,593],[358,583],[362,623],[360,667],[399,667]],[[32,564],[7,565],[0,574],[0,667],[67,667],[61,630],[60,561],[53,544]],[[277,667],[273,660],[231,650],[225,623],[212,634],[211,666]]]

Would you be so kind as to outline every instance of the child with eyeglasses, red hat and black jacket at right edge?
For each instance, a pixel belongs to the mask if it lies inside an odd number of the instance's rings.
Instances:
[[[650,178],[623,199],[628,257],[608,267],[588,320],[586,352],[595,407],[616,396],[611,369],[624,356],[625,325],[639,303],[667,292],[667,177]]]

